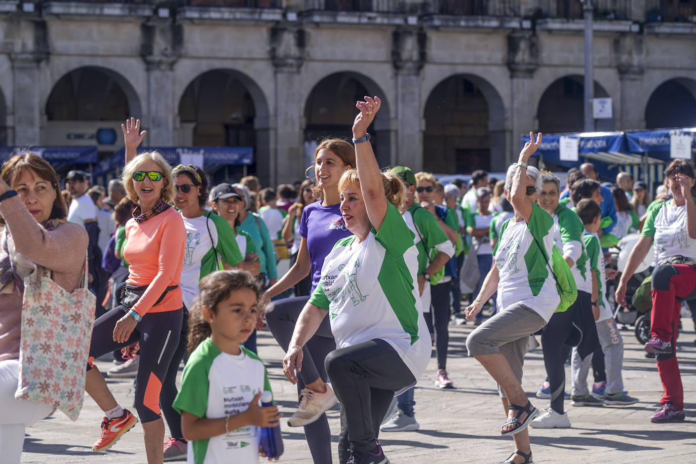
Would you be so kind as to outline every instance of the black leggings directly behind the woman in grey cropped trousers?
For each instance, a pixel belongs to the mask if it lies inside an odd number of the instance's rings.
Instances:
[[[551,390],[551,408],[559,414],[563,414],[563,400],[565,395],[565,360],[567,350],[564,343],[571,335],[575,312],[581,301],[576,300],[565,312],[555,312],[546,326],[541,329],[541,347],[544,350],[544,367],[548,376],[549,390]]]

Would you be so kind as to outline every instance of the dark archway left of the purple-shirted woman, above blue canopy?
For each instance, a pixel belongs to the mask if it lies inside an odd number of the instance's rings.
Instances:
[[[269,184],[268,127],[260,118],[268,107],[260,88],[235,70],[210,70],[193,79],[179,102],[180,145],[194,147],[253,147],[251,166],[209,169],[213,182],[237,182],[246,174]]]

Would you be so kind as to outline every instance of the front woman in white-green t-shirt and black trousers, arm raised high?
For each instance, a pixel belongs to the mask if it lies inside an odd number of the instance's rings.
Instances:
[[[337,349],[325,365],[341,403],[341,463],[388,463],[377,442],[379,425],[395,392],[425,371],[431,351],[420,317],[415,236],[399,212],[406,189],[393,173],[380,172],[367,134],[380,104],[365,97],[356,105],[356,169],[338,184],[341,215],[353,235],[324,259],[283,359],[285,376],[295,383],[302,346],[329,319]]]

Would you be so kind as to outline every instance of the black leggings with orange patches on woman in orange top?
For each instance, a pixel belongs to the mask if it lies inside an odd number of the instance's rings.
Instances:
[[[159,392],[179,344],[183,309],[148,312],[125,342],[116,343],[113,341],[113,328],[116,327],[118,319],[127,313],[128,308],[120,305],[95,321],[87,370],[92,369],[91,362],[95,358],[140,342],[140,365],[135,381],[135,405],[140,421],[145,424],[161,417]]]

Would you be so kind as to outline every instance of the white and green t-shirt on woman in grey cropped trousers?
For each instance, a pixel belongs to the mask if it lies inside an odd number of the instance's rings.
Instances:
[[[523,303],[546,322],[551,319],[560,303],[555,280],[548,271],[552,251],[553,218],[539,205],[532,204],[529,223],[513,219],[503,223],[493,250],[500,273],[498,308]]]

